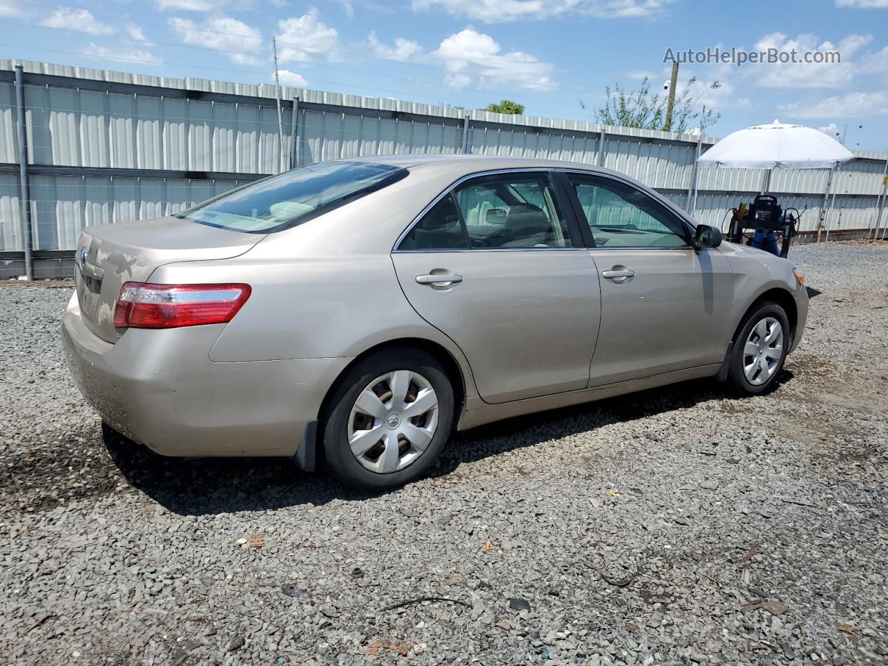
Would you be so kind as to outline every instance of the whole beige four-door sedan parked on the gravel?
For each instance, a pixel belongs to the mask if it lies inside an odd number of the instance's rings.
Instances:
[[[469,155],[318,163],[90,227],[62,334],[87,400],[167,456],[319,456],[414,480],[454,430],[694,377],[773,386],[789,260],[609,170]]]

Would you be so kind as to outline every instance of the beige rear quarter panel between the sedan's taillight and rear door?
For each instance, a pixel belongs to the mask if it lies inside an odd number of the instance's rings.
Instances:
[[[250,298],[210,349],[210,361],[354,357],[392,340],[420,338],[454,357],[466,394],[475,394],[464,354],[416,314],[388,254],[283,257],[269,246],[264,250],[226,261],[169,264],[151,276],[173,284],[250,284]]]

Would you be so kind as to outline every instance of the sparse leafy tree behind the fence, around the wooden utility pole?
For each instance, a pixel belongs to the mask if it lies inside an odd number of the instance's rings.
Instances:
[[[672,107],[672,126],[670,131],[683,132],[692,127],[700,127],[704,131],[711,124],[718,122],[721,114],[704,106],[697,110],[700,96],[694,98],[692,87],[696,77],[688,80],[685,89],[675,99]],[[703,90],[716,90],[721,83],[713,81]],[[701,93],[702,94],[702,93]],[[651,92],[651,83],[647,77],[641,82],[638,91],[626,91],[619,83],[605,88],[605,105],[595,109],[593,115],[598,123],[617,127],[636,127],[641,130],[665,130],[667,96],[659,92]],[[585,108],[583,100],[580,107]]]

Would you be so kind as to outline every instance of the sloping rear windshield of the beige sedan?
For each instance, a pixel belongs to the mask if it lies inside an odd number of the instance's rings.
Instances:
[[[386,164],[311,164],[222,194],[176,217],[248,234],[269,234],[316,218],[406,175],[407,170]]]

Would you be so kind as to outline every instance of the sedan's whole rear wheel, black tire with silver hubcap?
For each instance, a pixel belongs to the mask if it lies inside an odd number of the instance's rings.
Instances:
[[[404,394],[400,407],[395,393]],[[329,400],[321,424],[329,472],[353,488],[397,488],[416,480],[440,454],[453,417],[453,386],[431,354],[409,348],[374,353],[347,371]]]

